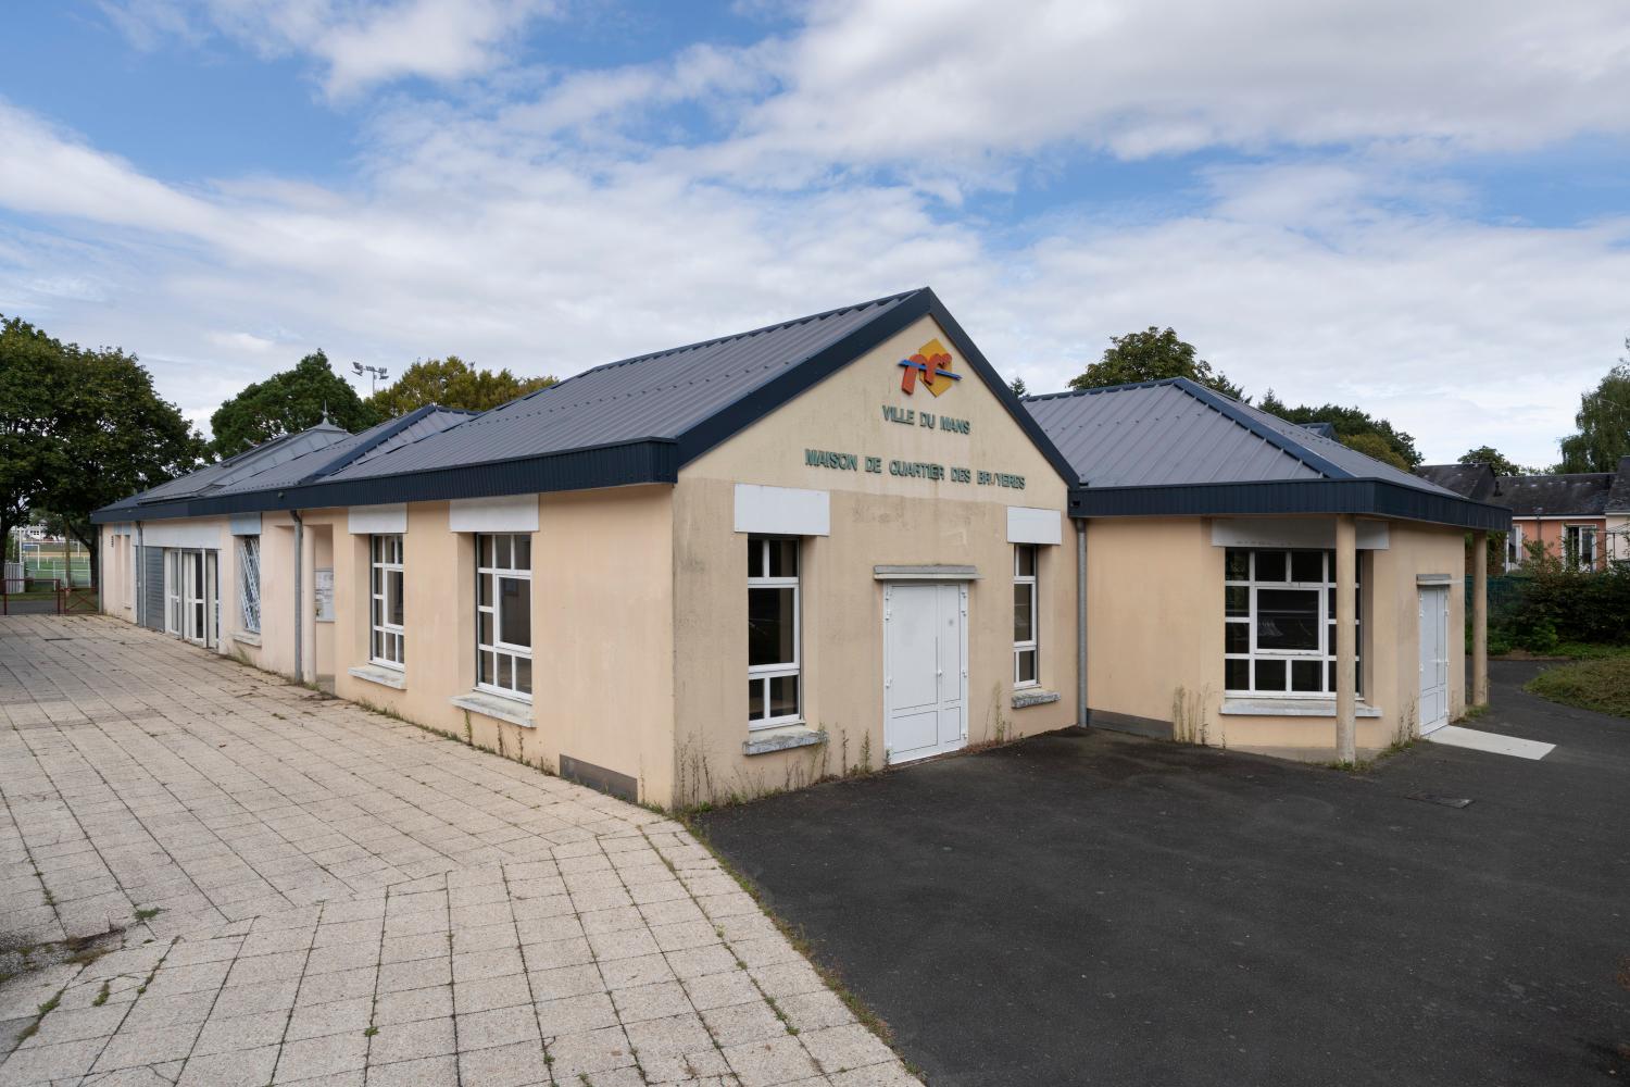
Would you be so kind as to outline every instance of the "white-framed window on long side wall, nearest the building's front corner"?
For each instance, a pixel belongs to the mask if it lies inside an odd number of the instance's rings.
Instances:
[[[476,536],[476,686],[531,701],[531,536]]]

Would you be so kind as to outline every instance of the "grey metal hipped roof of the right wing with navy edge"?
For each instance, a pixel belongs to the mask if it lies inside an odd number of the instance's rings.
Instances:
[[[1187,378],[1032,396],[1081,479],[1074,517],[1376,513],[1500,530],[1509,515]]]

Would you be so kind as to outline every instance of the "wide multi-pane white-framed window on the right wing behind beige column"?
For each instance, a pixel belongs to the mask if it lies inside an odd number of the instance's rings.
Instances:
[[[1229,694],[1335,694],[1333,551],[1229,548],[1222,595],[1222,686]],[[1355,626],[1359,600],[1355,587]],[[1355,686],[1363,689],[1363,660],[1356,668]]]

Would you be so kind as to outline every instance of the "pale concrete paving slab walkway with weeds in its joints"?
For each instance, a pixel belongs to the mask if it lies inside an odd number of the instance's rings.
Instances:
[[[657,813],[99,616],[0,714],[0,935],[117,948],[0,1084],[916,1082]]]

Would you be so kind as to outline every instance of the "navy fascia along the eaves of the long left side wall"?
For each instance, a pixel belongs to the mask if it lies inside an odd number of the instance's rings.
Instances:
[[[140,510],[104,507],[93,523],[156,521],[179,517],[222,517],[269,510],[323,510],[394,502],[487,499],[507,494],[592,491],[642,482],[676,482],[676,445],[672,438],[637,438],[585,450],[566,450],[512,461],[486,461],[396,476],[305,482],[280,491],[246,491],[218,497],[155,504]]]

